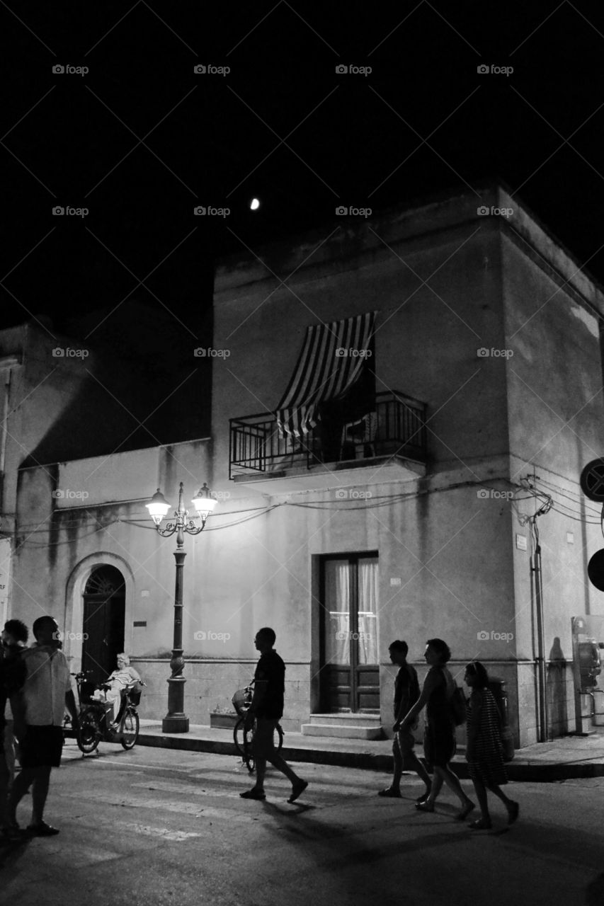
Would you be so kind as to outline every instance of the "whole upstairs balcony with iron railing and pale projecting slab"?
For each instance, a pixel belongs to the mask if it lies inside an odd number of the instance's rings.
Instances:
[[[321,421],[304,438],[281,438],[262,412],[230,419],[229,478],[268,494],[411,480],[425,474],[425,438],[425,404],[396,391],[376,394],[356,422]]]

